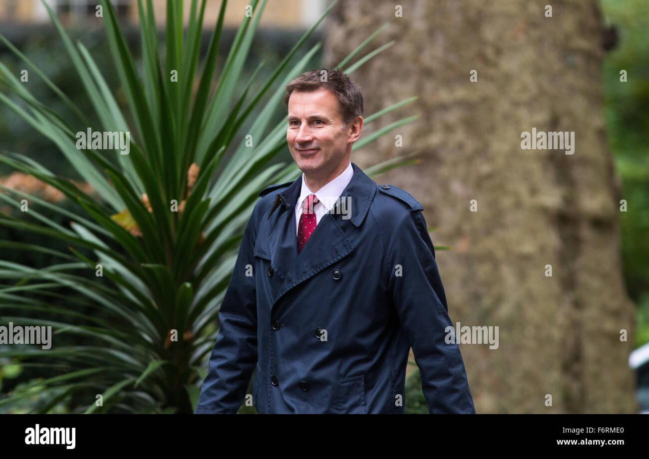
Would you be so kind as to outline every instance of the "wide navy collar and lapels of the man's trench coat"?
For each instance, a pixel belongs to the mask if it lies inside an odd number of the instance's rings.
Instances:
[[[315,276],[318,272],[336,263],[354,250],[354,244],[345,229],[349,222],[356,228],[361,225],[376,193],[376,182],[369,178],[360,167],[352,163],[354,175],[341,194],[350,218],[336,213],[337,203],[330,213],[326,213],[313,230],[302,252],[297,251],[294,207],[302,189],[301,176],[284,191],[277,193],[275,204],[267,220],[271,221],[267,241],[257,241],[254,254],[271,260],[274,274],[282,278],[282,286],[275,292],[272,305],[291,288]],[[271,218],[278,212],[276,218]],[[265,244],[263,242],[266,242]]]

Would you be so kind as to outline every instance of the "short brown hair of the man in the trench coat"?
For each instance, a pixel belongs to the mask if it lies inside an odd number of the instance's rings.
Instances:
[[[322,80],[324,77],[325,81]],[[319,69],[302,73],[286,85],[284,105],[288,110],[288,100],[293,91],[317,91],[329,89],[336,95],[338,106],[343,116],[343,129],[353,119],[363,116],[363,93],[360,86],[354,83],[341,69]]]

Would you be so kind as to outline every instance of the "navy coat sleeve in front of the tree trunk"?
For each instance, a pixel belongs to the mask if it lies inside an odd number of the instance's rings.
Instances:
[[[416,210],[397,221],[387,241],[387,285],[419,367],[428,412],[475,413],[458,344],[445,340],[452,324],[426,220]]]

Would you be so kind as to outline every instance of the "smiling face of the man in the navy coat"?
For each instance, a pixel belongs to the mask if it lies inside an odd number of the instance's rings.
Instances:
[[[350,135],[350,123],[344,130],[342,125],[338,101],[332,91],[291,93],[286,141],[300,171],[306,175],[328,176],[345,157],[349,161],[347,145],[356,138]]]

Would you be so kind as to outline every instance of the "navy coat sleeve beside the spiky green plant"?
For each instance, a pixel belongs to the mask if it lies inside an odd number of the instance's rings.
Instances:
[[[256,218],[249,220],[232,270],[230,284],[219,310],[219,333],[208,374],[201,386],[195,414],[236,414],[257,362],[257,306],[254,275]]]

